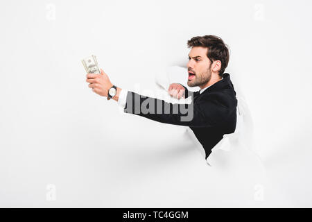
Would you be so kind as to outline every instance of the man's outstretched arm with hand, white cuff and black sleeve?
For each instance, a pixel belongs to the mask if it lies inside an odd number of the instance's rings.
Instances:
[[[110,79],[103,70],[101,70],[101,75],[87,74],[87,83],[90,83],[89,87],[101,96],[107,96],[108,89],[112,87]],[[189,94],[192,93],[189,92]],[[193,99],[191,104],[173,104],[160,99],[141,96],[119,87],[117,87],[113,99],[124,108],[124,112],[179,126],[214,126],[224,121],[233,111],[222,102],[216,102],[223,101],[222,98],[215,98],[214,101],[202,100],[196,105],[193,105]]]

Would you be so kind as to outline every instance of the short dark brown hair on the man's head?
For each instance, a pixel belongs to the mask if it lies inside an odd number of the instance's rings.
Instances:
[[[207,57],[211,62],[220,60],[221,69],[219,71],[219,76],[223,76],[225,68],[229,63],[229,46],[227,46],[220,37],[216,35],[192,37],[191,40],[187,41],[187,46],[189,48],[195,46],[208,48]]]

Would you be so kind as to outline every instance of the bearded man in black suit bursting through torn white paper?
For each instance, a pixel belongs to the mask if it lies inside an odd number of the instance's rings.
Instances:
[[[206,159],[211,149],[236,128],[236,92],[224,73],[229,62],[229,50],[220,37],[205,35],[193,37],[187,42],[191,51],[187,69],[189,87],[200,87],[189,92],[187,87],[173,83],[168,93],[180,99],[191,96],[191,104],[173,104],[141,96],[114,86],[107,74],[87,74],[87,83],[94,92],[107,99],[118,101],[124,112],[137,114],[154,121],[179,126],[189,126],[205,149]]]

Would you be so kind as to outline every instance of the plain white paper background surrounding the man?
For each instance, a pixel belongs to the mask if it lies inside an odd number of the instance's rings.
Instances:
[[[310,8],[1,1],[0,206],[312,207]],[[81,59],[94,54],[115,85],[154,89],[197,35],[231,49],[226,71],[248,102],[266,183],[207,167],[185,128],[123,114],[87,87]]]

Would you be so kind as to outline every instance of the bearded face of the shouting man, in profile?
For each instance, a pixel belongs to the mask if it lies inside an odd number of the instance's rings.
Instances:
[[[211,78],[211,61],[207,57],[208,49],[200,46],[193,47],[189,52],[187,69],[189,87],[205,85]]]

